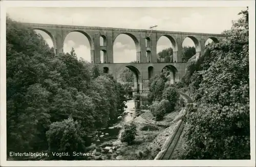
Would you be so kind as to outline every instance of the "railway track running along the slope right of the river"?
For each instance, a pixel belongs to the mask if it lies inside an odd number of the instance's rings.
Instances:
[[[193,100],[192,100],[189,96],[187,96],[186,94],[184,94],[184,93],[181,93],[181,92],[180,92],[180,94],[181,94],[182,96],[184,96],[184,97],[186,98],[186,100],[187,100],[187,105],[186,105],[186,108],[185,108],[185,110],[186,110],[186,112],[187,112],[187,110],[189,110],[191,107],[193,107],[193,105],[194,105],[194,104],[193,104]],[[185,122],[184,122],[183,120],[181,120],[181,121],[179,122],[179,124],[178,124],[178,127],[175,129],[174,135],[173,135],[172,138],[169,140],[168,147],[167,147],[167,149],[165,150],[165,152],[163,153],[162,157],[160,158],[161,160],[168,160],[168,159],[170,159],[170,157],[171,157],[172,154],[173,154],[173,151],[174,151],[175,148],[176,148],[176,145],[177,145],[177,143],[178,143],[178,140],[179,140],[179,138],[180,138],[180,135],[181,135],[181,133],[182,133],[182,131],[183,131],[184,126],[185,126]]]

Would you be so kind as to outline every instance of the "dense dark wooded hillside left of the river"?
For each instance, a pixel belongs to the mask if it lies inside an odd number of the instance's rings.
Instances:
[[[48,150],[47,138],[49,149],[61,152],[64,146],[52,136],[71,142],[67,133],[89,135],[114,123],[122,112],[125,97],[120,83],[97,66],[77,60],[73,49],[55,56],[40,35],[10,18],[6,39],[8,152]],[[82,145],[81,140],[73,142]]]

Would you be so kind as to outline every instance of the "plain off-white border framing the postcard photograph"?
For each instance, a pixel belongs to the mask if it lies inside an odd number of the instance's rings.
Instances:
[[[2,166],[255,166],[255,1],[1,1],[1,165]],[[6,8],[8,7],[249,7],[250,160],[6,160]],[[203,25],[202,25],[203,26]]]

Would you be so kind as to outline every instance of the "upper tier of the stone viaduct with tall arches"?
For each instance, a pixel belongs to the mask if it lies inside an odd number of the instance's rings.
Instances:
[[[192,39],[196,46],[197,55],[203,54],[208,38],[218,43],[225,35],[193,32],[156,31],[105,27],[86,27],[69,25],[51,25],[23,23],[33,29],[46,32],[53,41],[55,53],[63,52],[63,43],[70,32],[80,32],[89,39],[91,48],[91,62],[100,62],[100,51],[104,52],[103,62],[113,63],[113,44],[120,34],[129,35],[135,42],[137,62],[157,62],[157,41],[166,36],[173,45],[173,62],[182,62],[182,42],[186,37]],[[100,37],[103,44],[100,45]]]

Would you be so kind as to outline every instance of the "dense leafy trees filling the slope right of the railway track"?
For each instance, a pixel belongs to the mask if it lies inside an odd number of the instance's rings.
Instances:
[[[239,14],[183,78],[198,105],[187,114],[184,159],[250,159],[248,11]]]

